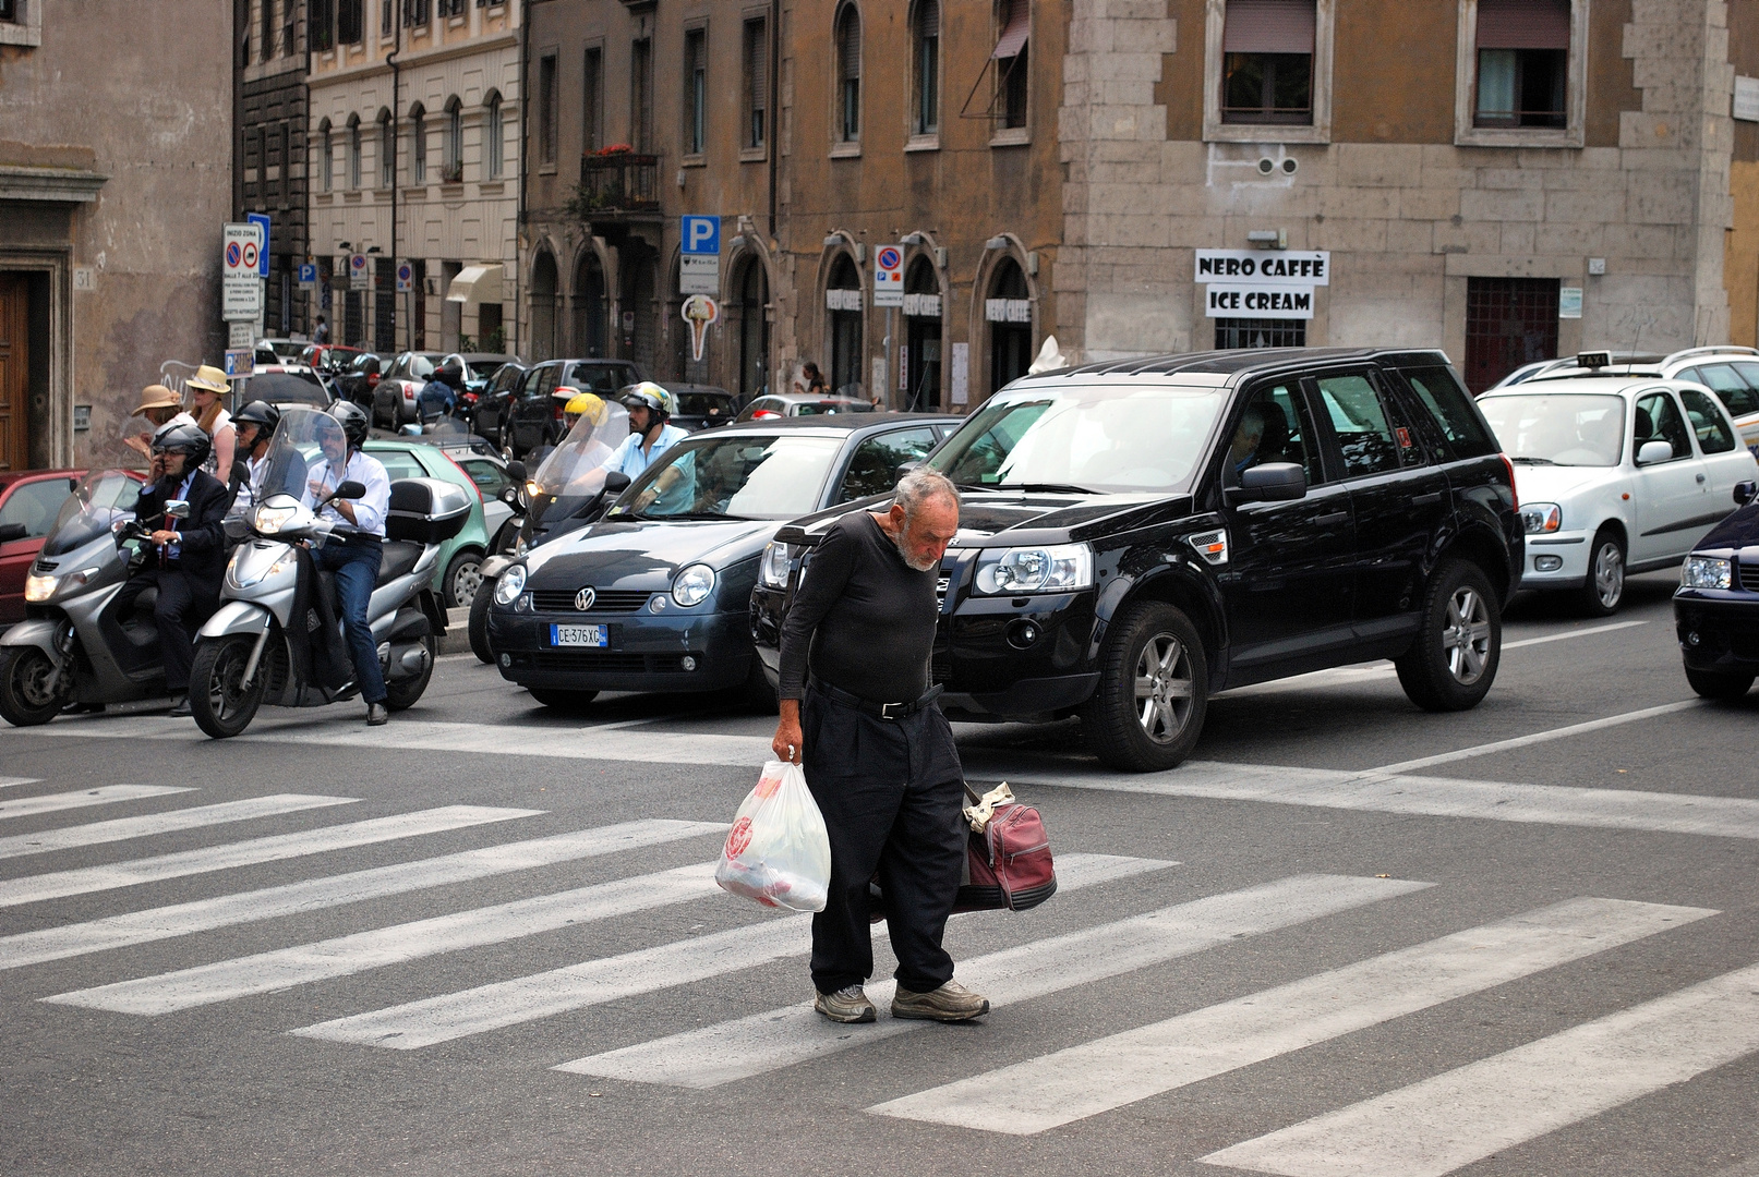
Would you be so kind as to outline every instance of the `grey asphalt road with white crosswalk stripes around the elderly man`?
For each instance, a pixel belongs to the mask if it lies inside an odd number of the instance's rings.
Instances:
[[[1062,880],[953,921],[967,1026],[816,1022],[799,919],[707,882],[726,701],[454,655],[378,731],[4,731],[0,1170],[1759,1173],[1759,692],[1694,701],[1669,580],[1518,601],[1465,715],[1328,671],[1154,776],[960,727]]]

